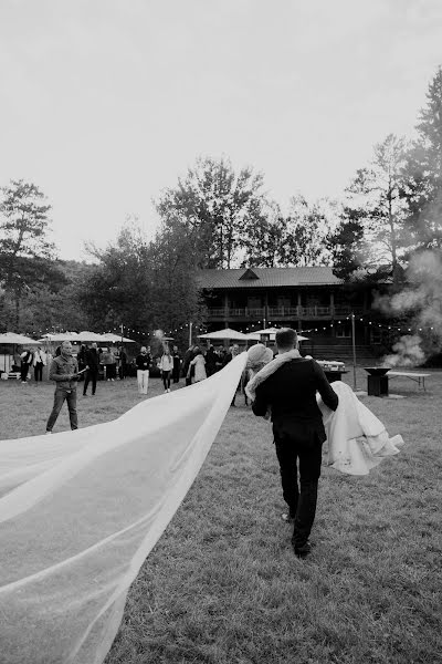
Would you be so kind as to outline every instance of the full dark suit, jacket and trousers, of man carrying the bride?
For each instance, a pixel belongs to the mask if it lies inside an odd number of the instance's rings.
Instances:
[[[296,548],[306,543],[315,520],[322,447],[326,439],[316,392],[336,411],[338,397],[322,367],[314,360],[299,357],[283,364],[261,383],[252,405],[255,415],[263,416],[269,407],[272,409],[283,496],[294,518],[292,541]]]

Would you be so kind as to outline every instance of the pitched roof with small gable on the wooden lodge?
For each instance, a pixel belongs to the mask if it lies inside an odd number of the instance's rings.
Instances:
[[[343,283],[333,268],[239,268],[200,270],[198,281],[206,289],[278,288],[284,286],[335,286]]]

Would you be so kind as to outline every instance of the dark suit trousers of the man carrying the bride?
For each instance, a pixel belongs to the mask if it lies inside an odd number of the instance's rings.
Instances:
[[[275,434],[275,447],[283,497],[294,519],[292,543],[303,547],[316,515],[323,444],[315,433],[302,437],[284,433]]]

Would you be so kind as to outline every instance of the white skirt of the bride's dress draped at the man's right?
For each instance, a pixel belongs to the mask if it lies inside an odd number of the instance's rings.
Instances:
[[[390,438],[380,419],[346,383],[336,381],[332,387],[339,397],[335,412],[318,397],[328,442],[327,464],[348,475],[368,475],[385,457],[400,452],[403,438]]]

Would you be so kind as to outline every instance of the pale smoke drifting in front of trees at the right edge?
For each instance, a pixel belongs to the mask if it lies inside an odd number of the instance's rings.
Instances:
[[[393,351],[400,359],[398,362],[392,360],[394,355],[389,355],[386,362],[411,365],[423,362],[430,354],[441,352],[442,252],[428,250],[415,253],[410,259],[406,276],[408,286],[393,295],[378,298],[375,307],[389,317],[409,318],[409,325],[414,334],[402,336],[394,344]],[[404,339],[408,341],[403,341]]]

